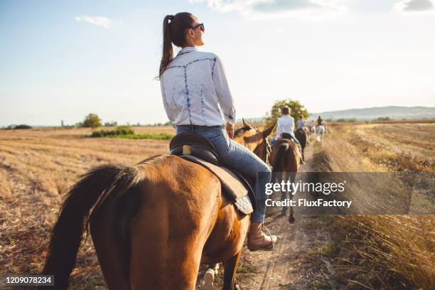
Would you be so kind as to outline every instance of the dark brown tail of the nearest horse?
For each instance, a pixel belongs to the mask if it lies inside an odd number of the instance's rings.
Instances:
[[[119,198],[141,177],[137,168],[109,164],[85,173],[70,190],[50,237],[42,274],[55,276],[55,289],[67,289],[83,230],[90,215],[109,195]],[[51,288],[50,288],[51,289]]]

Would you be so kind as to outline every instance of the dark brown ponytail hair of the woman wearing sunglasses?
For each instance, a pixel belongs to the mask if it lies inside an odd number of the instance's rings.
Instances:
[[[186,30],[195,23],[195,16],[188,12],[176,15],[166,15],[163,19],[163,53],[161,55],[159,77],[163,75],[166,67],[173,59],[172,43],[183,46],[186,43]]]

